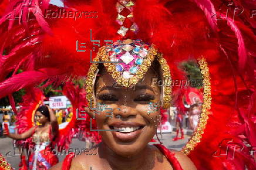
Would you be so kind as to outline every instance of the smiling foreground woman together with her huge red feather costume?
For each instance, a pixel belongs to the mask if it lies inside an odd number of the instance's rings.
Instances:
[[[224,20],[227,10],[215,10],[234,8],[221,1],[63,1],[63,8],[32,2],[25,2],[33,5],[31,17],[21,15],[24,4],[14,1],[0,21],[5,35],[1,49],[7,54],[0,72],[23,69],[9,79],[1,77],[0,97],[46,80],[58,84],[86,75],[91,103],[86,111],[103,139],[97,145],[99,155],[69,155],[53,169],[255,168],[255,155],[250,154],[256,141],[255,21],[250,18],[255,5],[250,1],[234,1],[244,7],[236,20],[230,13]],[[92,11],[96,16],[56,18],[46,9]],[[19,22],[6,19],[17,15]],[[191,58],[203,76],[202,113],[182,150],[193,163],[161,144],[148,145],[160,121],[159,108],[169,108],[180,88],[170,87],[169,80],[186,79],[177,64]],[[17,81],[21,78],[25,82]],[[152,78],[164,80],[164,86],[152,86]],[[235,144],[243,149],[237,151]],[[221,154],[227,148],[234,151],[233,159]]]

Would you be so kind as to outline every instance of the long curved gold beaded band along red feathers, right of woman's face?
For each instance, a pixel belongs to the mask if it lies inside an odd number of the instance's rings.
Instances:
[[[206,128],[208,114],[210,114],[211,109],[211,79],[209,74],[209,68],[207,66],[206,59],[204,59],[203,56],[200,59],[198,59],[198,64],[200,65],[201,74],[203,76],[203,106],[200,119],[197,125],[197,129],[196,131],[194,131],[194,134],[191,136],[190,140],[182,149],[182,152],[184,152],[184,154],[186,155],[193,151],[194,147],[196,147],[196,145],[200,142],[202,135],[204,133],[204,129]]]

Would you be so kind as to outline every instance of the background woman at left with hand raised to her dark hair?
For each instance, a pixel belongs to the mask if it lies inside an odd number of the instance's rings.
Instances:
[[[35,151],[29,157],[29,169],[49,169],[58,163],[58,157],[50,151],[53,149],[51,142],[59,131],[58,122],[52,109],[44,105],[39,106],[36,110],[35,120],[38,125],[22,134],[11,134],[6,131],[4,134],[15,140],[32,137],[32,141],[35,143]],[[25,165],[23,164],[23,166]]]

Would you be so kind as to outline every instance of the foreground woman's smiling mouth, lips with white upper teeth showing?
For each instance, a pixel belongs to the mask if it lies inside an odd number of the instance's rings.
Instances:
[[[120,129],[120,131],[112,131],[112,134],[116,140],[122,142],[135,140],[141,134],[144,126],[134,122],[116,122],[109,125],[112,129]]]

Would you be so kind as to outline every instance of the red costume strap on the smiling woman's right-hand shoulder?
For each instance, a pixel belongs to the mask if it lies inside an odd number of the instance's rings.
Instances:
[[[167,158],[167,160],[170,162],[171,166],[173,166],[174,170],[183,170],[183,168],[180,165],[180,162],[178,162],[177,158],[174,157],[174,153],[171,152],[169,149],[164,147],[164,145],[161,144],[153,144],[159,151],[161,151],[164,156]]]

